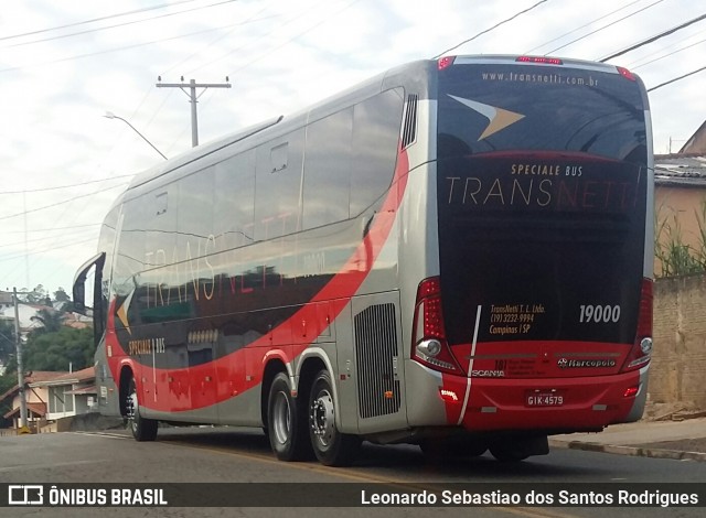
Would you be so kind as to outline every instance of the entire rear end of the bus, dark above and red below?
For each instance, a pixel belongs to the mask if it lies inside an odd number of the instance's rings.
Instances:
[[[419,285],[413,359],[441,373],[447,424],[546,438],[638,420],[652,346],[642,82],[459,56],[439,62],[437,99],[439,277]]]

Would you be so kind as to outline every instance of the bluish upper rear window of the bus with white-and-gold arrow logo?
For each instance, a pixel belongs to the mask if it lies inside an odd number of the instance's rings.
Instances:
[[[619,74],[517,65],[439,73],[439,159],[503,150],[570,151],[644,164],[635,82]]]

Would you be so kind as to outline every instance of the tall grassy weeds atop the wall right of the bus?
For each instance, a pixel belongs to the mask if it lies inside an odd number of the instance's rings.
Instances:
[[[654,255],[660,260],[662,271],[656,277],[680,277],[706,272],[706,198],[702,201],[700,213],[694,211],[699,228],[698,248],[684,242],[678,218],[660,219],[655,214]]]

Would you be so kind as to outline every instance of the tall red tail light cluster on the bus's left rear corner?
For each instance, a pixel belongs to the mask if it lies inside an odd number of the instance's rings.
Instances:
[[[417,289],[411,358],[435,370],[461,374],[446,339],[438,277],[425,279]]]

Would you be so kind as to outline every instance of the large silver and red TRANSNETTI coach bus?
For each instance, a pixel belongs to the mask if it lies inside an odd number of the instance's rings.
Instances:
[[[99,409],[138,441],[211,423],[282,461],[517,462],[642,416],[652,234],[638,76],[446,56],[137,175],[74,301]]]

